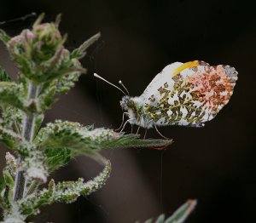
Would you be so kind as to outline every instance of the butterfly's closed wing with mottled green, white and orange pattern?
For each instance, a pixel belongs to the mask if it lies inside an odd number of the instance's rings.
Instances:
[[[144,112],[158,125],[201,126],[212,120],[233,94],[237,71],[199,60],[166,66],[141,98]]]

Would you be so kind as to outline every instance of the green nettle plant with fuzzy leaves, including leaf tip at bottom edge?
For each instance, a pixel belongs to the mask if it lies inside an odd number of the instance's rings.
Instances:
[[[31,222],[47,204],[73,203],[79,196],[99,190],[111,171],[110,162],[99,153],[103,149],[171,144],[171,140],[142,140],[137,134],[61,120],[42,127],[44,112],[56,96],[67,94],[86,72],[79,60],[100,37],[98,33],[70,52],[63,45],[67,36],[58,30],[61,16],[51,23],[41,23],[43,19],[41,14],[31,30],[16,37],[0,31],[0,39],[19,69],[15,82],[0,68],[0,140],[9,149],[0,181],[2,222]],[[50,179],[53,171],[80,155],[104,165],[102,172],[89,181],[79,178],[55,183]],[[160,215],[156,222],[183,222],[194,207],[195,201],[189,200],[172,217],[165,220]]]

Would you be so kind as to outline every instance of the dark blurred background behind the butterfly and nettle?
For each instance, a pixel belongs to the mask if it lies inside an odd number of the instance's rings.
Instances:
[[[107,185],[76,203],[43,209],[37,222],[128,223],[162,212],[172,214],[188,198],[197,198],[198,205],[186,222],[256,222],[256,13],[247,2],[1,2],[0,21],[32,12],[45,12],[45,21],[50,21],[62,13],[61,32],[69,35],[68,49],[102,32],[101,40],[82,60],[89,72],[48,111],[45,122],[61,118],[97,127],[119,126],[122,94],[92,77],[93,72],[113,83],[122,79],[132,95],[142,94],[152,78],[174,61],[205,60],[235,66],[239,72],[230,103],[205,128],[161,128],[162,134],[175,141],[164,152],[132,148],[104,152],[113,163]],[[9,22],[0,28],[17,35],[33,20]],[[0,50],[1,66],[15,76],[3,44]],[[148,137],[160,136],[151,129]],[[3,166],[4,149],[0,152]],[[101,169],[79,157],[53,177],[90,179]]]

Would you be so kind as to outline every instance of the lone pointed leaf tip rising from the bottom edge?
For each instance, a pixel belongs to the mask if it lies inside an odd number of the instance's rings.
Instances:
[[[183,223],[195,209],[196,200],[188,200],[172,216],[166,219],[165,223]]]

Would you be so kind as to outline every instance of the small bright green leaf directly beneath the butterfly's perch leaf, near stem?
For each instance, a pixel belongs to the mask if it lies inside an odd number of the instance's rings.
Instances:
[[[73,157],[71,150],[67,148],[47,148],[44,152],[49,172],[66,165]]]

